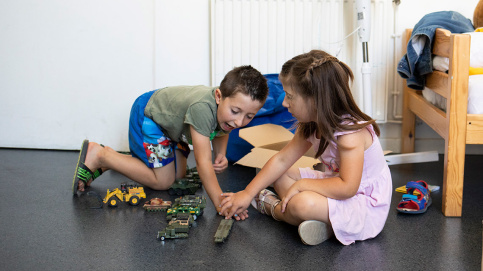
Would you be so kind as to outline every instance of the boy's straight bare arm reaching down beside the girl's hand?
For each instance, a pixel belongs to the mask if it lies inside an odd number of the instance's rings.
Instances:
[[[196,168],[205,187],[206,193],[215,205],[217,212],[220,211],[221,188],[216,178],[213,164],[211,163],[210,138],[198,133],[190,126],[193,153],[195,154]]]

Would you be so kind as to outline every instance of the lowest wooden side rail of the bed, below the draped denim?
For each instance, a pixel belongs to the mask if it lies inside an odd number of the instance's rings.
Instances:
[[[446,113],[432,105],[415,90],[409,89],[409,109],[436,131],[442,138],[447,137]]]

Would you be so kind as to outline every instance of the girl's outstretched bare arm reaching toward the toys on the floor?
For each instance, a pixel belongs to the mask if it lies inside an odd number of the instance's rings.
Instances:
[[[280,152],[268,160],[245,190],[238,193],[223,194],[225,199],[221,203],[221,213],[230,218],[234,214],[245,211],[257,193],[280,178],[307,152],[311,145],[299,132],[296,132],[293,139]]]

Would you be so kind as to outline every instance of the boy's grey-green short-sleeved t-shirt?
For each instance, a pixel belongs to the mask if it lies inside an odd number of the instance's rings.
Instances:
[[[158,89],[148,101],[144,115],[174,141],[191,144],[190,125],[207,137],[220,130],[216,118],[215,90],[207,86],[176,86]],[[223,132],[217,135],[225,134]]]

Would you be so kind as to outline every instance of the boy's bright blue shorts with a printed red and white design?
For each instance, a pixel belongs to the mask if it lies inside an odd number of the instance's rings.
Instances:
[[[175,150],[188,157],[190,149],[184,142],[174,142],[165,135],[161,126],[144,116],[144,108],[156,90],[139,96],[129,117],[129,149],[133,157],[149,168],[163,167],[176,159]]]

